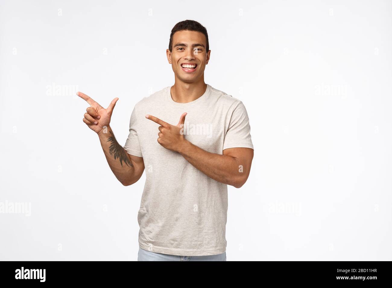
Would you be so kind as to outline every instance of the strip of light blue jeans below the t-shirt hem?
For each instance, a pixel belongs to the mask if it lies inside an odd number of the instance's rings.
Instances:
[[[138,261],[226,261],[226,252],[206,256],[181,256],[151,252],[139,247]]]

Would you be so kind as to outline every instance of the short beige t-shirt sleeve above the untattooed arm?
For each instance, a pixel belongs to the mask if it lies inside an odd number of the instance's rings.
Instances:
[[[229,127],[223,140],[223,150],[240,147],[253,149],[249,117],[242,101],[236,105],[231,114]]]

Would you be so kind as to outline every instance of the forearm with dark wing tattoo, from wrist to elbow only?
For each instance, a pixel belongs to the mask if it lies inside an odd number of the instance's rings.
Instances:
[[[134,166],[127,151],[117,142],[111,127],[107,127],[98,133],[107,163],[113,171],[114,176],[123,185],[131,181],[134,175]]]

